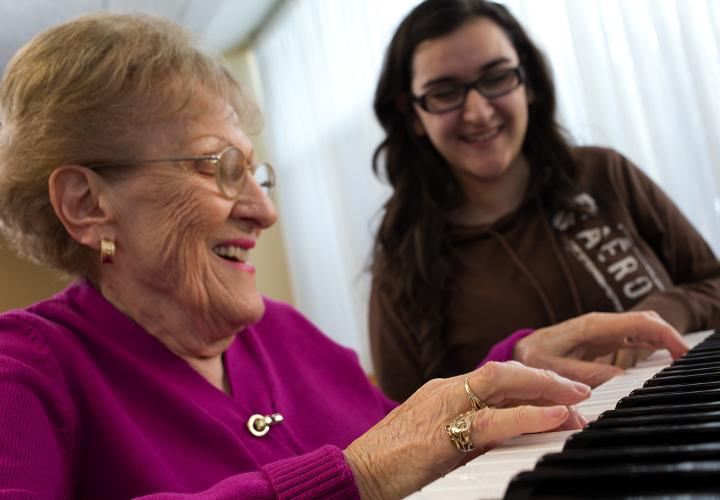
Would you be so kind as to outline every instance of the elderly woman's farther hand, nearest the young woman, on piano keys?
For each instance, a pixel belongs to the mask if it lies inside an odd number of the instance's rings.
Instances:
[[[536,330],[515,345],[514,358],[596,387],[623,371],[597,358],[628,347],[666,348],[674,359],[688,349],[680,333],[653,311],[590,313]]]

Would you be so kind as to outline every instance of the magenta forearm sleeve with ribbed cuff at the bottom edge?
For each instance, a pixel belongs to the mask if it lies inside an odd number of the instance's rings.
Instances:
[[[360,493],[343,452],[335,446],[323,446],[311,453],[267,464],[257,472],[232,476],[200,493],[154,493],[141,498],[143,500],[359,499]]]

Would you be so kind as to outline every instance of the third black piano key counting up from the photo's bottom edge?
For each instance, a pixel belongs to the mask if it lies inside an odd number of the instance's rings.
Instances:
[[[657,443],[683,445],[709,442],[720,442],[720,422],[584,429],[582,432],[568,437],[563,449],[646,446]]]

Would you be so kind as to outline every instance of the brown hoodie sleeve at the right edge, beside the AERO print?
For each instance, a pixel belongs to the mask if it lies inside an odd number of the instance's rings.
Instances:
[[[635,310],[654,310],[680,332],[720,325],[720,261],[670,198],[620,157],[614,180],[641,237],[664,264],[673,286],[651,293]]]

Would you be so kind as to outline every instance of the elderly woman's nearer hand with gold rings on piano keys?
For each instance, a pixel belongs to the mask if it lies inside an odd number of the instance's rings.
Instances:
[[[431,380],[345,450],[363,498],[408,495],[500,440],[585,423],[568,407],[590,395],[585,384],[513,361],[488,363],[467,377],[470,390],[494,407],[470,415],[475,451],[460,452],[445,430],[471,409],[465,375]]]

